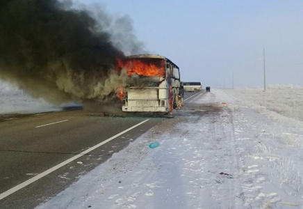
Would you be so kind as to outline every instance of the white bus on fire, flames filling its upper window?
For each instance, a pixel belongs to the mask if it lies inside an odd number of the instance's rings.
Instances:
[[[165,56],[127,56],[119,65],[131,81],[122,93],[122,111],[168,113],[183,105],[179,67]]]

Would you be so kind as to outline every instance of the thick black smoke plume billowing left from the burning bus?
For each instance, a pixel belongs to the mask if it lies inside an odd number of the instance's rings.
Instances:
[[[116,59],[141,48],[129,17],[115,19],[101,7],[91,12],[71,1],[0,1],[0,79],[34,97],[108,100],[126,85]]]

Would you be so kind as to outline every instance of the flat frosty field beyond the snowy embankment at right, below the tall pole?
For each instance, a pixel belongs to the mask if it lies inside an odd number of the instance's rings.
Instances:
[[[282,88],[284,87],[284,88]],[[262,89],[222,90],[247,107],[254,107],[273,121],[303,121],[303,88],[300,86],[272,86]]]

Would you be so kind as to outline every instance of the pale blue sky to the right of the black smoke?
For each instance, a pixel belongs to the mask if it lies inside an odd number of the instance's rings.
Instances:
[[[303,85],[303,1],[99,2],[113,15],[129,15],[139,40],[153,54],[179,65],[183,81],[204,86]]]

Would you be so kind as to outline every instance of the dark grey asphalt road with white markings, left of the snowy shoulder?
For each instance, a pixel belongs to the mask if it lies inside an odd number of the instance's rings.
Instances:
[[[185,93],[185,101],[196,95]],[[35,208],[163,120],[103,117],[81,109],[2,120],[0,208]]]

